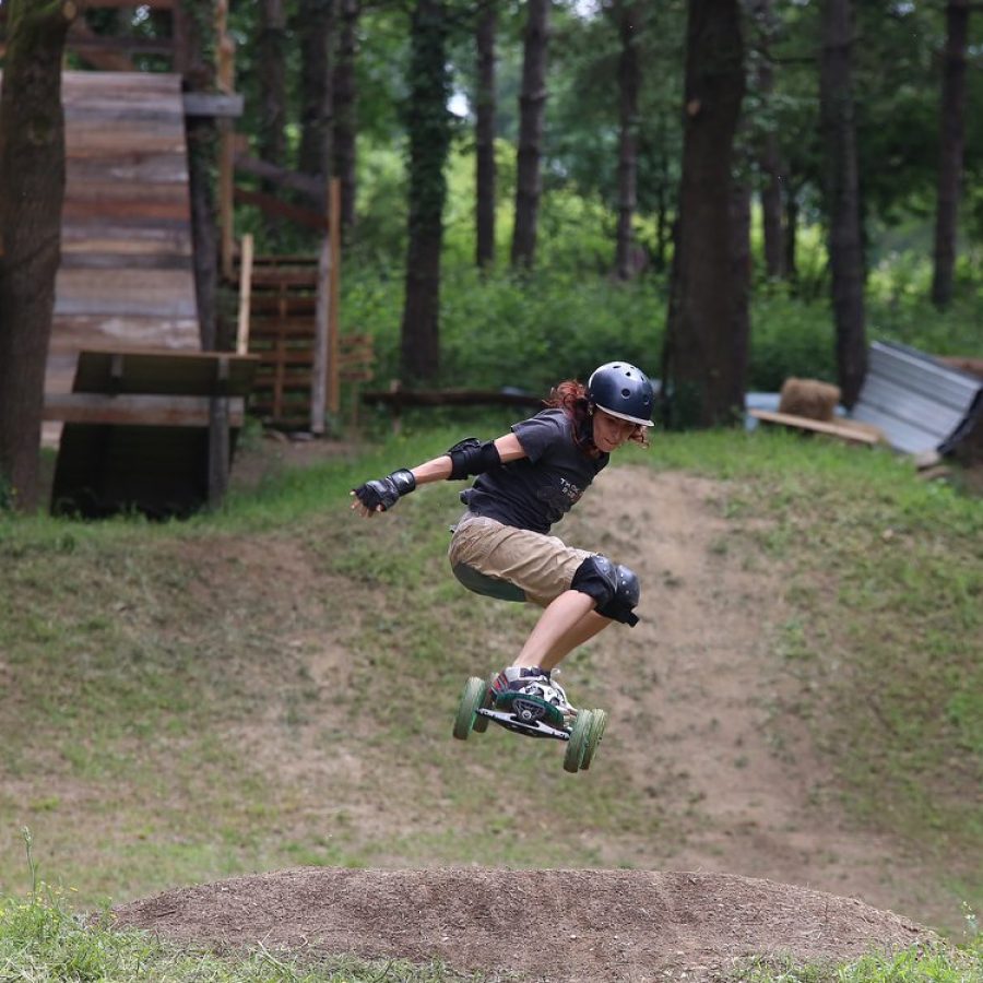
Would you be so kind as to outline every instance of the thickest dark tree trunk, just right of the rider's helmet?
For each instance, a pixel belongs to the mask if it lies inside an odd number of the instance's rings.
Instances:
[[[747,335],[733,274],[732,159],[744,97],[738,0],[689,0],[679,225],[663,381],[675,426],[743,410]]]

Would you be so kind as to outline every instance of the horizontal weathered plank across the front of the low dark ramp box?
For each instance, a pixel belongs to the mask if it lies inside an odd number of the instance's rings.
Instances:
[[[43,418],[76,424],[144,427],[206,427],[208,396],[105,395],[93,392],[48,393]],[[242,426],[245,401],[229,400],[229,424]]]

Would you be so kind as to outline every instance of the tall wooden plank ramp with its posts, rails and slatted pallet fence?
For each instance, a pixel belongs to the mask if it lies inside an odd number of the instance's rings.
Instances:
[[[72,390],[82,348],[116,345],[185,352],[200,347],[186,150],[186,119],[191,116],[208,116],[218,125],[221,268],[240,293],[239,350],[254,345],[264,359],[260,378],[267,381],[258,393],[257,413],[274,426],[322,433],[325,415],[339,412],[341,382],[353,375],[365,378],[371,360],[370,347],[343,345],[339,336],[336,182],[325,188],[310,176],[282,170],[241,152],[232,123],[241,112],[242,99],[234,92],[227,0],[216,0],[217,91],[209,93],[182,91],[183,78],[200,75],[201,66],[194,63],[190,43],[196,25],[178,0],[88,0],[85,4],[86,11],[96,8],[140,8],[144,19],[153,19],[154,29],[150,36],[134,28],[134,19],[123,14],[115,17],[115,32],[97,33],[80,16],[67,38],[73,63],[81,61],[95,71],[62,75],[67,187],[46,380],[45,441],[58,441],[57,410]],[[0,3],[0,51],[5,13]],[[242,187],[237,174],[260,179],[262,187]],[[283,194],[267,193],[271,185],[292,194],[300,192],[317,204],[289,204]],[[235,238],[236,203],[252,204],[319,230],[323,235],[320,256],[299,264],[260,258],[253,279],[251,244],[247,256],[245,244],[240,247]],[[308,269],[298,271],[297,265]],[[275,317],[271,303],[279,311]],[[260,323],[251,331],[253,311]],[[343,347],[357,365],[343,367]]]

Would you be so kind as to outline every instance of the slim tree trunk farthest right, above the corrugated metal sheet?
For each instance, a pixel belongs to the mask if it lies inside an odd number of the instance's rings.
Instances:
[[[969,10],[969,0],[949,0],[946,4],[946,58],[939,111],[938,201],[935,213],[935,272],[932,279],[932,301],[940,310],[952,300],[956,216],[962,180]]]

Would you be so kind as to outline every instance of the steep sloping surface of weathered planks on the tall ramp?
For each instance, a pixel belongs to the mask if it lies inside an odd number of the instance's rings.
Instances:
[[[62,261],[46,379],[54,395],[71,392],[83,348],[201,346],[180,78],[64,72],[62,100]]]

